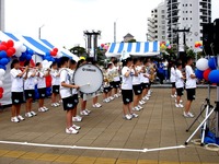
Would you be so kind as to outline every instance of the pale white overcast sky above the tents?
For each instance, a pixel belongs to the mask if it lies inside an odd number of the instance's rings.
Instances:
[[[212,20],[219,17],[218,0],[212,1]],[[38,37],[58,46],[85,45],[84,30],[102,31],[99,45],[117,42],[130,33],[146,40],[147,19],[162,0],[5,0],[5,31]]]

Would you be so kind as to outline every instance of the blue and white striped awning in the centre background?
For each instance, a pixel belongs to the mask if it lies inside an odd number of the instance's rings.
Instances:
[[[122,57],[128,56],[149,57],[160,55],[159,42],[145,43],[112,43],[106,51],[106,57]]]

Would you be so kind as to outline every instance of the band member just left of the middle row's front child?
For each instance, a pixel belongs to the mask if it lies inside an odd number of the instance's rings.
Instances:
[[[119,71],[120,68],[118,66],[118,60],[113,61],[113,69],[114,69],[114,79],[113,79],[113,90],[114,90],[114,97],[118,98],[120,95],[118,94],[118,89],[120,86],[120,77]]]

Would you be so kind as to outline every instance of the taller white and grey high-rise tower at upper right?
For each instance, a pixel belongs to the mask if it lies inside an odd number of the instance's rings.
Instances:
[[[203,25],[211,22],[211,0],[165,0],[165,12],[166,39],[172,44],[178,40],[180,51],[183,51],[184,42],[194,48],[195,42],[203,40]],[[188,28],[185,34],[175,32]]]

